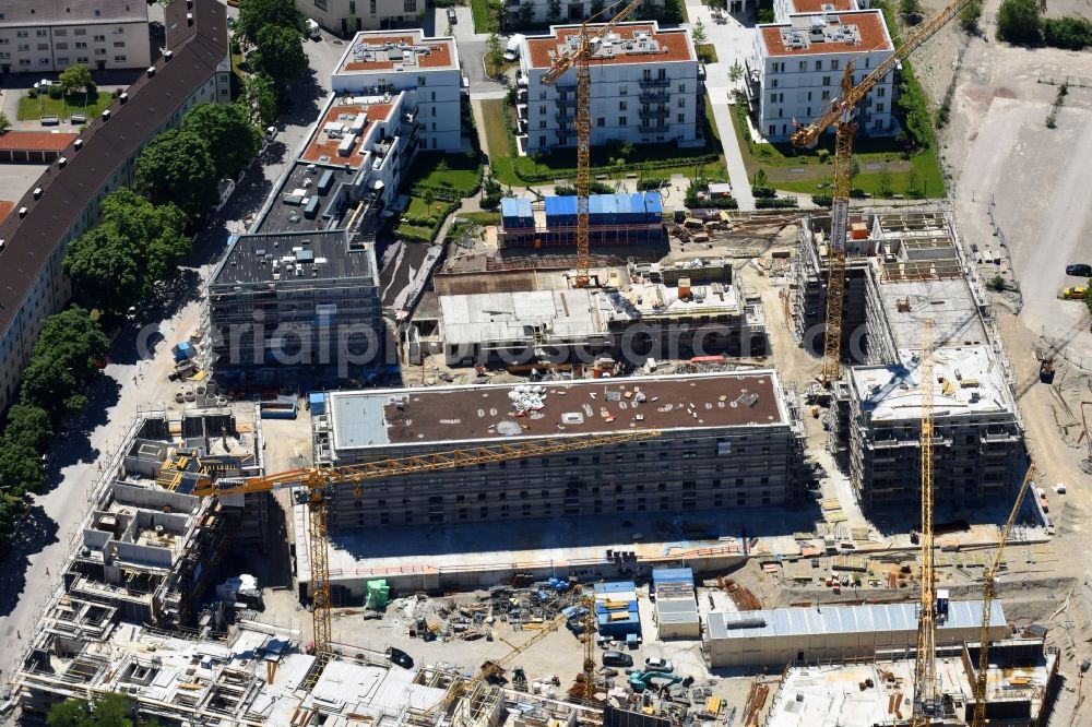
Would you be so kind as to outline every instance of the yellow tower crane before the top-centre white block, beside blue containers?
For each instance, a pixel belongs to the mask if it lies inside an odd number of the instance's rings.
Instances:
[[[637,10],[643,1],[632,0],[625,10],[603,25],[593,25],[592,21],[604,14],[606,10],[600,11],[581,23],[577,48],[554,58],[549,71],[542,79],[546,85],[553,85],[566,71],[573,65],[577,68],[577,115],[574,118],[577,129],[577,278],[574,284],[578,288],[586,287],[591,282],[591,275],[587,271],[591,265],[587,186],[591,177],[592,153],[592,53],[606,39],[610,28]],[[619,4],[621,3],[616,2],[610,8],[616,8]]]

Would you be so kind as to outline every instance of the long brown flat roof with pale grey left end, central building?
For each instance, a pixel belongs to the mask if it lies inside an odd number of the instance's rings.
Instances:
[[[337,453],[389,444],[787,425],[772,370],[333,392]]]

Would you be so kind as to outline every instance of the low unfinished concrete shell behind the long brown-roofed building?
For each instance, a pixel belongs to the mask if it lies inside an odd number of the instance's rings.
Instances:
[[[441,275],[405,331],[407,357],[442,351],[448,366],[522,366],[767,355],[761,303],[724,260],[631,262],[597,275],[604,287],[577,289],[563,272],[533,267],[473,281]]]

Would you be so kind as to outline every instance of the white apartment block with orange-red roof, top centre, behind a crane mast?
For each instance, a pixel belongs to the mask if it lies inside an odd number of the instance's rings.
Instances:
[[[524,38],[517,108],[526,153],[575,146],[577,71],[543,83],[554,59],[580,41],[579,25],[555,25]],[[634,144],[698,140],[702,82],[686,28],[653,22],[616,25],[592,50],[592,146],[612,140]]]

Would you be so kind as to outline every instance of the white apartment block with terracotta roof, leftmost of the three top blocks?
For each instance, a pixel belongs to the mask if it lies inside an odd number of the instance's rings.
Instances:
[[[454,38],[419,28],[357,33],[331,78],[334,93],[355,96],[406,92],[419,122],[418,148],[463,148],[463,74]]]

